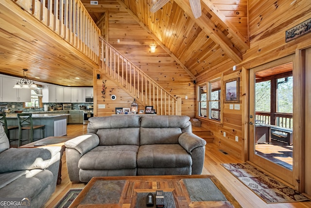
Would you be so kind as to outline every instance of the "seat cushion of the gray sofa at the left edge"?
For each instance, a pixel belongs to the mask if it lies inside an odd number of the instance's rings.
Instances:
[[[20,173],[20,172],[19,172]],[[0,177],[9,173],[1,173]],[[12,172],[12,174],[15,174]],[[15,174],[15,176],[17,176]],[[11,178],[12,179],[12,178]],[[0,197],[28,197],[35,198],[37,194],[42,192],[46,187],[53,183],[53,174],[50,170],[25,170],[24,174],[11,180],[0,189]]]

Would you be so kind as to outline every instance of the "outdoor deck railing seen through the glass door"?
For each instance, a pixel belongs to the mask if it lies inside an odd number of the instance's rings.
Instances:
[[[270,112],[256,112],[256,122],[293,129],[293,113],[274,113],[275,121],[271,121]]]

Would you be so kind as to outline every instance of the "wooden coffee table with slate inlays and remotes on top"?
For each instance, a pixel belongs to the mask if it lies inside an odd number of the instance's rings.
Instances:
[[[163,175],[93,177],[69,208],[146,207],[156,190],[164,191],[165,208],[241,207],[213,175]]]

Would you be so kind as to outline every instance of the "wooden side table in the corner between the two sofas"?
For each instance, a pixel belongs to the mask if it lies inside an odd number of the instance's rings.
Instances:
[[[59,160],[59,170],[58,170],[58,177],[57,177],[57,185],[59,185],[62,181],[62,156],[66,149],[65,142],[74,138],[74,136],[49,136],[29,144],[20,146],[19,148],[37,148],[42,146],[60,146],[60,160]]]

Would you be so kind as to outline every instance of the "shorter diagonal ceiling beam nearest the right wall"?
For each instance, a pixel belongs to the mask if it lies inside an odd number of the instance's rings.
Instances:
[[[238,43],[242,45],[245,50],[249,49],[249,39],[245,38],[241,32],[229,22],[225,15],[211,2],[211,0],[202,0],[204,4],[210,9],[208,12],[226,29],[226,31],[237,39]]]

